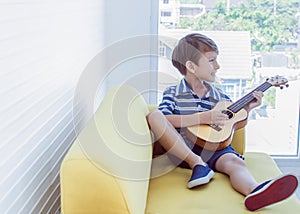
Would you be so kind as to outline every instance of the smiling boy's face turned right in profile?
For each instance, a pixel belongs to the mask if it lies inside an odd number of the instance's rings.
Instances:
[[[218,54],[214,51],[206,52],[201,55],[198,63],[193,64],[193,69],[190,70],[194,76],[200,80],[205,80],[208,82],[214,82],[216,79],[216,72],[220,68],[217,62]]]

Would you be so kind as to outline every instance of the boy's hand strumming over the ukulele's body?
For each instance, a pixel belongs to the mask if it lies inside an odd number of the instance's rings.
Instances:
[[[201,124],[225,125],[226,120],[228,120],[228,115],[223,114],[219,110],[204,111],[201,112],[200,115]]]

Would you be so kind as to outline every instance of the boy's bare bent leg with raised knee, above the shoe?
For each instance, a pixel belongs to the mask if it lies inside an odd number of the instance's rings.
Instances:
[[[147,115],[147,121],[155,136],[155,141],[159,141],[170,154],[187,162],[191,169],[198,164],[205,165],[202,158],[191,151],[181,135],[159,110],[150,112]]]

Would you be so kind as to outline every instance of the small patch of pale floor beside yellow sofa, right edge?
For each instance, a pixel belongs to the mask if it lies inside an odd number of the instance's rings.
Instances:
[[[283,173],[290,172],[296,175],[300,183],[300,159],[275,159],[275,162]],[[298,185],[296,195],[300,201],[300,185]]]

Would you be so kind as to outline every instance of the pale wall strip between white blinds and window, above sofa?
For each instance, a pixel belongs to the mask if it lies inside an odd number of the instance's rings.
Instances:
[[[107,87],[130,84],[156,102],[158,0],[110,0],[106,12]]]

